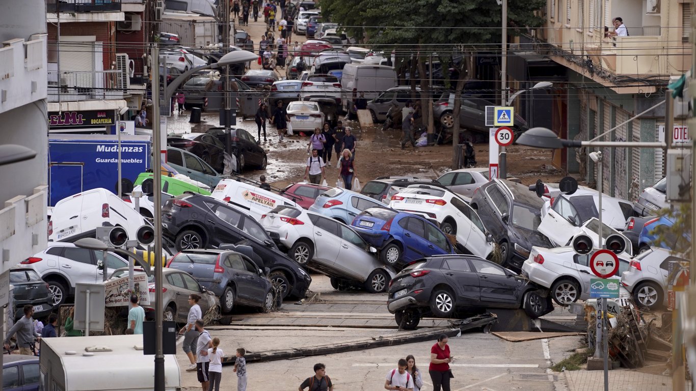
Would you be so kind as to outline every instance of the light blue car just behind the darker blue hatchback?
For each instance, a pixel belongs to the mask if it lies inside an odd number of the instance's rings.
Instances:
[[[334,187],[319,194],[314,200],[314,204],[310,205],[309,210],[350,225],[355,216],[358,216],[363,210],[379,206],[384,206],[384,204],[374,198],[363,196],[355,191]]]

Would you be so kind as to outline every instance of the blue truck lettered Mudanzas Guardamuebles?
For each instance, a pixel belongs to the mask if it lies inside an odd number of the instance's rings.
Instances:
[[[121,136],[122,177],[135,181],[150,167],[149,136]],[[104,134],[49,134],[49,206],[102,187],[116,193],[118,139]]]

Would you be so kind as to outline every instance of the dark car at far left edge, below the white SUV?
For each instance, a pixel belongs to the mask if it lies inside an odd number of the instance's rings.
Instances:
[[[10,269],[10,285],[13,285],[15,319],[24,316],[24,305],[34,306],[34,319],[47,317],[53,310],[53,296],[48,284],[33,269],[17,267]]]

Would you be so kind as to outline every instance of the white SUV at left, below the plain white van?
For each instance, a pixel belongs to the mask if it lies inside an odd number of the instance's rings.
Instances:
[[[53,295],[52,305],[58,307],[74,295],[77,282],[98,284],[104,280],[104,272],[97,268],[102,252],[78,248],[72,243],[50,242],[48,247],[19,266],[33,269],[46,281]],[[106,253],[107,276],[128,262],[114,253]]]

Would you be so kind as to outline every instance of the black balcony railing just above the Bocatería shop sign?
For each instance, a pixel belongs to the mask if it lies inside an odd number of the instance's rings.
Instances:
[[[118,89],[120,70],[48,72],[48,100],[81,101],[91,99],[122,99]]]

